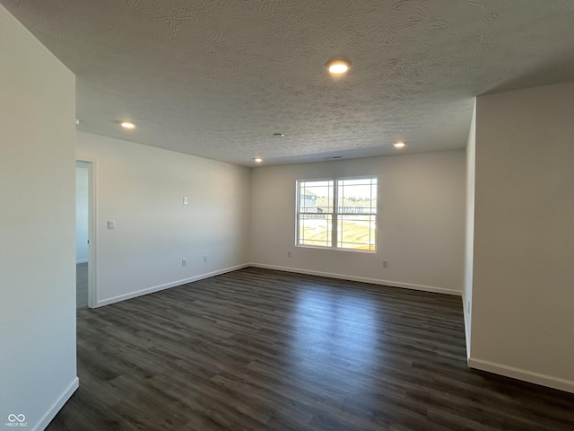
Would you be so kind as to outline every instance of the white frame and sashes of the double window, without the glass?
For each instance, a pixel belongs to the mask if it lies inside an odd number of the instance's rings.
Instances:
[[[378,198],[378,176],[377,175],[361,175],[357,177],[339,177],[339,178],[314,178],[314,179],[307,179],[307,180],[297,180],[296,181],[296,205],[295,205],[295,246],[296,247],[306,247],[306,248],[317,248],[317,249],[326,249],[326,250],[343,250],[343,251],[358,251],[358,252],[367,252],[367,253],[375,253],[377,252],[377,215],[378,215],[378,208],[375,209],[375,212],[372,213],[363,213],[365,216],[374,216],[375,217],[375,243],[372,250],[364,250],[364,249],[353,249],[347,247],[339,247],[338,244],[338,233],[339,233],[339,216],[356,216],[357,213],[348,213],[348,212],[339,212],[338,200],[339,200],[339,181],[342,180],[377,180],[377,198]],[[317,213],[311,212],[301,212],[300,211],[300,192],[301,192],[301,183],[305,182],[326,182],[331,181],[333,184],[333,207],[331,212],[324,212],[322,214],[326,216],[331,216],[331,244],[330,245],[317,245],[317,244],[301,244],[300,243],[300,216],[302,215],[313,215]],[[378,199],[377,199],[377,207],[378,207]]]

